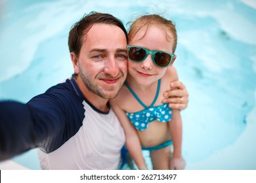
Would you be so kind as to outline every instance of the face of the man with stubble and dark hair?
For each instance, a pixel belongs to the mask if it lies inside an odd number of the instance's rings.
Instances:
[[[74,65],[78,79],[104,99],[117,96],[127,76],[127,41],[116,25],[94,24]]]

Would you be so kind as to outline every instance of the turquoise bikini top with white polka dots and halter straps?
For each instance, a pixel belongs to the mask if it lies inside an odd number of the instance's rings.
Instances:
[[[143,131],[148,127],[150,122],[154,120],[158,120],[159,122],[169,122],[171,120],[171,108],[168,107],[168,104],[165,103],[160,106],[153,106],[156,103],[156,99],[158,99],[158,94],[160,90],[161,80],[158,80],[158,89],[156,91],[156,96],[150,107],[147,107],[136,93],[131,89],[131,87],[125,82],[125,86],[129,89],[129,91],[133,94],[133,96],[137,99],[137,101],[142,105],[145,109],[140,110],[139,112],[126,112],[126,115],[131,120],[131,123],[139,130]]]

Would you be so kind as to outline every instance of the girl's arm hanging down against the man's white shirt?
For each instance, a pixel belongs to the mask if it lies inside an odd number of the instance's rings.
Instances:
[[[133,127],[133,124],[131,124],[127,118],[124,110],[119,108],[117,105],[112,105],[112,108],[116,113],[123,130],[125,131],[125,144],[129,153],[131,154],[131,157],[139,169],[147,169],[146,163],[142,156],[142,148],[135,127]]]

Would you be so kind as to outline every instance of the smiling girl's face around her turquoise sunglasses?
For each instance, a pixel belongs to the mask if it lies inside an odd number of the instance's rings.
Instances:
[[[167,35],[166,30],[159,25],[150,25],[147,28],[142,27],[129,44],[142,46],[148,50],[173,53],[173,35],[171,33]],[[166,69],[156,66],[153,63],[151,54],[148,54],[146,59],[140,63],[135,63],[128,59],[129,76],[135,79],[138,84],[152,84],[163,77]]]

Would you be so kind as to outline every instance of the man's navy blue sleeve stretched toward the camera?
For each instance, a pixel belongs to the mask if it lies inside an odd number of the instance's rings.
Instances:
[[[0,102],[0,160],[31,148],[53,152],[83,125],[84,97],[74,79],[33,97],[27,104]]]

